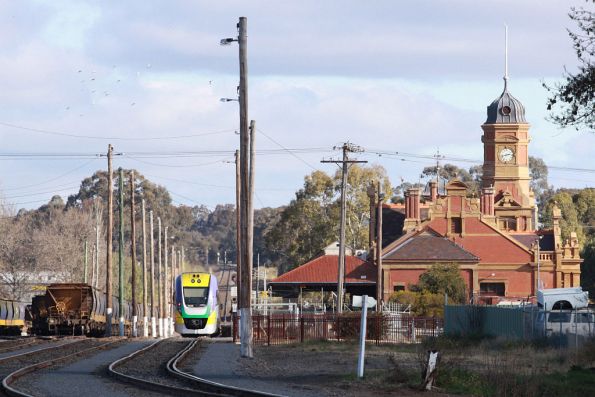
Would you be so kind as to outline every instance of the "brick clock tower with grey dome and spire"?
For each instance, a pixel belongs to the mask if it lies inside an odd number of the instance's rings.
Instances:
[[[496,225],[509,232],[533,231],[537,209],[529,186],[529,124],[524,106],[508,92],[508,71],[504,91],[488,106],[487,113],[481,126],[482,187],[493,188]]]

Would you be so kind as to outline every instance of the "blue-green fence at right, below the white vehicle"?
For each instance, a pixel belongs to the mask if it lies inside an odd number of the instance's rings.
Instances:
[[[455,336],[547,339],[552,345],[581,345],[595,337],[595,312],[588,309],[543,310],[536,306],[447,305],[444,333]]]

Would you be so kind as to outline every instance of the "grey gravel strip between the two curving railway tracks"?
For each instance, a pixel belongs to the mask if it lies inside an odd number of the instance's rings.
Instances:
[[[113,349],[100,351],[66,366],[37,371],[31,378],[23,378],[22,382],[17,382],[16,387],[27,390],[35,396],[159,396],[161,394],[120,383],[105,372],[107,366],[113,361],[153,341],[152,339],[127,341]]]

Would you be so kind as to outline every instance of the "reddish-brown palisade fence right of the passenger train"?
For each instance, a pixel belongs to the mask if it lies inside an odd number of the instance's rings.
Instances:
[[[279,345],[309,340],[357,340],[361,312],[322,314],[253,314],[252,336],[255,345]],[[233,316],[233,340],[238,335],[238,316]],[[366,339],[376,344],[419,343],[424,337],[439,336],[441,318],[412,317],[401,314],[369,313]]]

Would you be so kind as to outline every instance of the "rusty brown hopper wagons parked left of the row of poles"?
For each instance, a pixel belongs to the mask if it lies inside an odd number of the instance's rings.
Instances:
[[[112,333],[118,332],[120,305],[113,297]],[[125,333],[132,329],[132,304],[125,301],[121,308]],[[36,335],[89,335],[105,334],[105,294],[83,283],[50,284],[44,295],[33,297],[31,302],[31,331]],[[142,305],[137,305],[137,315],[143,318]],[[139,328],[142,324],[137,324]]]

